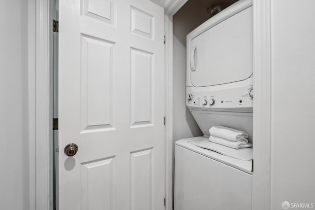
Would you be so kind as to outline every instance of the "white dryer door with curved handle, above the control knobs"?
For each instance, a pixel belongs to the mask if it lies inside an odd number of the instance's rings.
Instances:
[[[250,77],[252,6],[193,38],[190,49],[190,80],[195,87]]]

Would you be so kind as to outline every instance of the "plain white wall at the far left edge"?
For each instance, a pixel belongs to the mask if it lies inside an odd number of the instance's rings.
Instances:
[[[28,0],[1,0],[0,20],[0,209],[29,210]]]

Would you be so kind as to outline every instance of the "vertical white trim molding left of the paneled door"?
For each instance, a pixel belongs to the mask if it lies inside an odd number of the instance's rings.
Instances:
[[[53,209],[51,0],[36,0],[35,175],[36,210]]]

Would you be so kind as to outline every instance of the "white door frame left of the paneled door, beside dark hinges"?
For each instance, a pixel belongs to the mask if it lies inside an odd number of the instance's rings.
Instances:
[[[30,167],[35,172],[35,186],[31,192],[31,209],[53,209],[53,76],[52,76],[52,6],[53,0],[33,1],[32,12],[35,12],[35,53],[34,68],[29,69],[30,75]],[[29,35],[30,35],[29,34]],[[31,85],[32,84],[32,85]],[[33,125],[34,126],[33,126]]]

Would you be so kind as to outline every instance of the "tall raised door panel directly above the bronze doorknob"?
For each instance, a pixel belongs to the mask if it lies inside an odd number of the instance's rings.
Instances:
[[[82,132],[114,130],[113,89],[115,43],[81,36]]]

